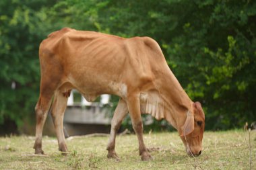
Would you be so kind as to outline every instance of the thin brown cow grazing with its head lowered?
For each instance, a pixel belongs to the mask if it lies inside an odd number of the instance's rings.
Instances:
[[[143,142],[141,114],[166,119],[176,128],[189,155],[201,154],[205,116],[199,102],[189,99],[170,71],[162,50],[148,37],[121,38],[71,28],[49,34],[39,48],[40,96],[36,104],[36,154],[42,151],[42,128],[52,97],[52,116],[59,150],[67,152],[63,115],[71,89],[88,101],[98,95],[120,97],[111,123],[108,158],[115,153],[117,130],[130,114],[142,160],[152,159]]]

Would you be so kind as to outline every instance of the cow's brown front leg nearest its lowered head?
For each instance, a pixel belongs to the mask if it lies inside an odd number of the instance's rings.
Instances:
[[[150,153],[148,153],[148,149],[146,148],[143,141],[143,124],[141,120],[139,95],[130,95],[127,100],[131,122],[133,123],[133,130],[137,134],[137,138],[139,140],[139,155],[141,155],[141,160],[152,160],[152,157]]]

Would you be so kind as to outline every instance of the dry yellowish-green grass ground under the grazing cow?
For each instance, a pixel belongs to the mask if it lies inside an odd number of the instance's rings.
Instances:
[[[247,139],[249,132],[246,133]],[[56,138],[44,136],[44,157],[33,156],[34,137],[0,138],[0,169],[195,169],[177,132],[144,134],[154,161],[141,161],[134,134],[117,136],[121,161],[106,158],[108,137],[83,137],[67,141],[69,155],[59,153]],[[256,131],[251,132],[252,169],[256,169]],[[205,132],[203,153],[196,169],[249,169],[249,148],[244,132]]]

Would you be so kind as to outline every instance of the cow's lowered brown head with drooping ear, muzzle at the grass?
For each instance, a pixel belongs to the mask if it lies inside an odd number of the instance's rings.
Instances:
[[[199,156],[201,154],[204,127],[205,115],[203,109],[199,102],[195,102],[191,110],[187,112],[187,119],[181,132],[181,139],[188,155]]]

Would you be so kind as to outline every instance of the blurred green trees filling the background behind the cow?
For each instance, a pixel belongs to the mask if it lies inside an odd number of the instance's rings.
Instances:
[[[38,45],[67,26],[154,38],[191,99],[203,104],[207,129],[256,119],[255,1],[5,0],[0,2],[1,123],[9,118],[21,124],[34,112]]]

